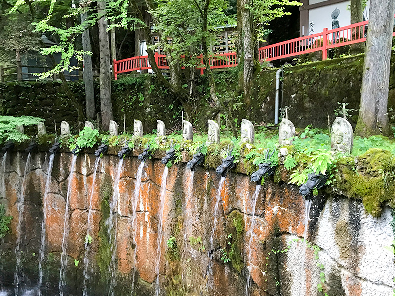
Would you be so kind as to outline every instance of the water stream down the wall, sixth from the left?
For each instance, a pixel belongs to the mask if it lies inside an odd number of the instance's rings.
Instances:
[[[110,277],[110,289],[109,293],[111,296],[114,296],[114,287],[115,287],[115,276],[116,276],[116,268],[117,268],[117,215],[115,210],[117,209],[118,196],[119,196],[119,180],[120,174],[122,172],[122,164],[123,158],[119,159],[118,167],[117,167],[117,175],[114,179],[114,192],[113,197],[110,202],[110,216],[106,221],[106,225],[108,226],[108,236],[110,242],[110,251],[111,251],[111,262],[109,267],[109,272],[111,273]]]

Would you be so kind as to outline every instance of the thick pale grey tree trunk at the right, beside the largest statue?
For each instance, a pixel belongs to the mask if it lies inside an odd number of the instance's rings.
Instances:
[[[356,134],[390,134],[387,103],[394,24],[393,0],[370,0],[370,19]]]

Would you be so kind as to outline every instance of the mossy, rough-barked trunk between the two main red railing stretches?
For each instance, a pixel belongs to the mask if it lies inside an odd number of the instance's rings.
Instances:
[[[247,114],[251,109],[251,82],[254,74],[254,36],[252,29],[252,14],[249,8],[250,0],[240,0],[243,50],[243,91]]]

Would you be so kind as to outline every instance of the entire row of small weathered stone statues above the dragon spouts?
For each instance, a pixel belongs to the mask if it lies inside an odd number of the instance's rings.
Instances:
[[[85,126],[94,129],[92,122],[85,121]],[[45,125],[39,123],[37,126],[38,135],[45,134]],[[18,130],[23,133],[23,126],[18,127]],[[111,120],[109,125],[110,136],[118,136],[118,124]],[[66,121],[60,124],[60,134],[70,134],[70,126]],[[140,120],[134,120],[133,134],[137,137],[143,137],[143,124]],[[157,137],[166,136],[166,126],[163,121],[157,120]],[[182,136],[185,140],[193,140],[192,124],[183,120]],[[291,145],[293,137],[295,136],[295,126],[292,121],[283,118],[278,131],[278,142],[280,146]],[[241,143],[254,143],[255,129],[251,121],[243,119],[241,122]],[[206,145],[212,143],[219,144],[220,129],[218,124],[213,120],[208,120],[208,141]],[[331,129],[331,146],[332,150],[351,153],[353,148],[353,128],[345,118],[336,117]]]

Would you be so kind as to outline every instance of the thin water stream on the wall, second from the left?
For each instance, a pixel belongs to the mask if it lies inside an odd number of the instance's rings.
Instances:
[[[16,269],[14,273],[14,284],[15,284],[15,295],[19,295],[20,285],[21,285],[21,277],[22,275],[22,225],[23,225],[23,212],[25,211],[25,182],[26,176],[29,172],[29,164],[30,164],[30,152],[26,159],[25,171],[23,173],[22,185],[21,185],[21,194],[17,201],[18,208],[18,225],[16,227],[17,239],[16,239],[16,248],[15,248],[15,258],[16,258]]]

